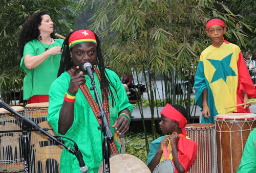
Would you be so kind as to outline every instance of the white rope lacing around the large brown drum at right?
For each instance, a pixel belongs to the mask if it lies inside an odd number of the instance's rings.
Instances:
[[[218,124],[218,127],[219,127],[219,129],[222,129],[222,127],[223,127],[223,120],[224,120],[224,122],[226,123],[226,125],[227,125],[227,127],[228,127],[228,129],[229,129],[229,131],[217,131],[217,128],[216,128],[216,132],[220,132],[220,149],[221,149],[221,173],[223,173],[223,161],[222,161],[222,141],[221,141],[221,139],[222,139],[222,137],[221,137],[221,134],[222,133],[225,133],[225,132],[228,132],[229,133],[229,141],[230,141],[230,157],[231,157],[231,165],[230,165],[230,169],[231,169],[231,173],[233,173],[233,160],[232,160],[232,133],[231,132],[243,132],[243,131],[252,131],[253,129],[251,128],[252,127],[252,125],[253,125],[253,122],[256,120],[256,117],[254,117],[254,118],[238,118],[238,119],[233,119],[233,118],[216,118],[216,119],[221,119],[222,120],[222,122],[221,122],[221,127],[220,127],[220,125],[219,125],[219,123],[217,123]],[[228,120],[228,121],[225,121],[225,120]],[[244,120],[244,121],[237,121],[237,120]],[[217,121],[217,120],[216,120]],[[228,124],[227,124],[227,122],[229,122],[230,124],[231,124],[231,127],[229,127],[228,126]],[[233,127],[233,123],[237,123],[238,124],[238,126],[240,127],[240,130],[237,130],[237,131],[231,131],[231,129],[232,129],[232,127]],[[243,122],[243,126],[241,127],[240,125],[239,125],[239,123],[238,122]],[[250,129],[246,129],[246,130],[242,130],[243,129],[243,127],[244,127],[244,125],[245,125],[245,123],[248,123],[248,125],[249,125],[249,127],[250,127]],[[251,123],[251,125],[250,125],[250,123],[249,122],[252,122]],[[244,152],[244,147],[243,147],[243,134],[241,133],[241,143],[242,143],[242,152]]]

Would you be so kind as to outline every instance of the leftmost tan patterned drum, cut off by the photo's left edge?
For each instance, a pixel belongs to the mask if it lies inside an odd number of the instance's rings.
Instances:
[[[21,115],[24,113],[21,106],[11,108]],[[24,171],[21,128],[19,117],[0,108],[0,172]]]

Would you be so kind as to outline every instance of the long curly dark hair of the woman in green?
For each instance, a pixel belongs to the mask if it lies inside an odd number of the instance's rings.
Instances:
[[[31,15],[28,20],[23,24],[22,30],[18,37],[19,43],[19,56],[23,57],[24,46],[27,42],[33,39],[37,39],[40,31],[38,27],[41,25],[42,15],[46,15],[46,12],[38,12]],[[49,15],[49,14],[47,14]],[[51,33],[51,38],[54,37],[54,33]]]

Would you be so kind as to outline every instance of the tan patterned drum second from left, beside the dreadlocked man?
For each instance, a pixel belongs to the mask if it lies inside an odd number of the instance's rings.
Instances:
[[[49,103],[28,104],[24,108],[25,116],[38,123],[41,129],[55,136],[47,121]],[[55,144],[40,132],[31,132],[30,137],[31,172],[59,172],[60,155],[63,146]]]

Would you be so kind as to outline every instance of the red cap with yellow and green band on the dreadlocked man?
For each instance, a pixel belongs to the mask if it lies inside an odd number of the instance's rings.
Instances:
[[[97,47],[97,41],[94,33],[90,30],[78,30],[69,37],[69,49],[76,44],[92,42]]]

